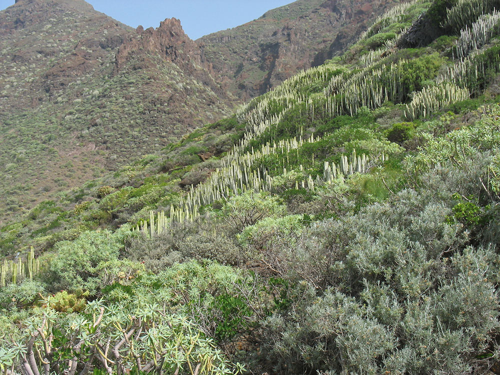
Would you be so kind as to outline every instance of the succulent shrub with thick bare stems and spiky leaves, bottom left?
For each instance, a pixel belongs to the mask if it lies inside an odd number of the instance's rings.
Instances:
[[[21,359],[27,373],[42,369],[88,373],[94,358],[108,373],[182,369],[191,374],[236,374],[243,370],[239,363],[234,367],[229,364],[190,320],[166,313],[157,304],[129,311],[108,305],[105,312],[100,301],[89,303],[83,316],[57,313],[50,308],[36,311],[26,327],[15,330],[10,342],[15,349],[7,354],[10,360]],[[3,340],[7,344],[9,338]],[[107,343],[112,348],[109,352],[104,349]],[[42,350],[46,360],[35,356],[35,347]],[[52,349],[59,354],[53,355]],[[2,360],[2,364],[5,362]]]

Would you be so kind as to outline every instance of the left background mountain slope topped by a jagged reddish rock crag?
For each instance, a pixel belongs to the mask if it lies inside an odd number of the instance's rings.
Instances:
[[[0,12],[0,35],[0,212],[164,146],[237,101],[175,19],[136,31],[82,0],[20,0]]]

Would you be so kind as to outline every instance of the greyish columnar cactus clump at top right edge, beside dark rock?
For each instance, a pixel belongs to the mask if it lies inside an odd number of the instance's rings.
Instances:
[[[456,55],[463,60],[470,51],[481,48],[500,31],[500,12],[496,9],[481,15],[472,25],[460,30],[460,37],[455,41]]]

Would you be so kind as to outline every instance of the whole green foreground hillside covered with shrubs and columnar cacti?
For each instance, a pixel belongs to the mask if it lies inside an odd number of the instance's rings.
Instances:
[[[0,227],[2,373],[500,373],[499,6],[396,5]]]

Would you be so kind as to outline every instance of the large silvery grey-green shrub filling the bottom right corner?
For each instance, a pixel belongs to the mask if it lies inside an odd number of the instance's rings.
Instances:
[[[314,287],[264,321],[262,360],[287,373],[464,373],[479,365],[474,355],[488,350],[498,324],[498,264],[492,248],[464,248],[466,235],[445,223],[450,213],[402,191],[313,225],[282,250],[304,255],[279,263]]]

